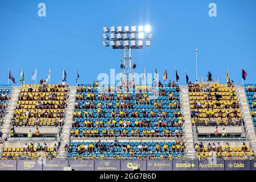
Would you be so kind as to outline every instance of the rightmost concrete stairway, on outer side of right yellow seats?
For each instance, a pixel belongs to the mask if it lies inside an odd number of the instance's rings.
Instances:
[[[253,119],[251,118],[251,113],[249,105],[247,103],[247,98],[245,94],[245,89],[243,86],[236,86],[237,99],[241,104],[241,113],[243,120],[245,121],[245,128],[247,131],[247,138],[250,139],[251,149],[256,151],[256,136],[253,126]]]

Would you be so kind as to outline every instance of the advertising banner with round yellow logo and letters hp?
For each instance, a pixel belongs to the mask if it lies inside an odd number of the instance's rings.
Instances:
[[[146,160],[121,160],[121,171],[146,171]]]

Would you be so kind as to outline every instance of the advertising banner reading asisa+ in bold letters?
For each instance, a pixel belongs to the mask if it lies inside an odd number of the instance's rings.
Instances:
[[[173,171],[198,171],[198,160],[173,160]]]

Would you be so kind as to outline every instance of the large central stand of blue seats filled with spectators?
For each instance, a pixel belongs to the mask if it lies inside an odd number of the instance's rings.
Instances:
[[[182,145],[180,139],[183,137],[183,115],[179,86],[160,85],[159,96],[155,99],[150,98],[153,94],[152,86],[134,85],[127,93],[122,92],[122,88],[118,86],[101,89],[98,88],[97,82],[92,85],[77,85],[71,140],[82,139],[85,142],[69,142],[65,146],[68,156],[79,155],[86,158],[92,155],[98,158],[103,155],[106,158],[113,156],[126,158],[133,154],[143,157],[155,155],[158,158],[161,155],[164,157],[184,155],[184,148],[183,151],[174,151],[177,153],[169,151],[172,146],[171,139],[177,140],[176,143],[173,142],[174,148]],[[88,138],[107,138],[106,142],[102,143],[104,152],[94,147],[97,142],[88,143]],[[135,141],[127,143],[122,141],[118,146],[110,147],[113,141],[111,138],[121,140],[127,138]],[[146,142],[146,139],[152,138],[166,138],[170,141],[166,144],[161,141],[160,150],[156,151],[157,140]],[[146,144],[145,151],[138,150],[140,142],[143,146]],[[93,146],[93,150],[81,152],[81,148],[85,146]],[[129,147],[130,151],[124,151],[123,146]],[[182,146],[185,147],[184,143]]]

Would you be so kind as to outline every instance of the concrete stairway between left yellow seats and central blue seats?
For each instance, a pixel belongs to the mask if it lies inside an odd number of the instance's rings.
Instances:
[[[57,155],[57,158],[63,158],[65,156],[65,144],[68,144],[69,142],[69,135],[72,125],[72,119],[73,119],[73,110],[75,106],[75,100],[76,100],[76,86],[69,86],[69,94],[68,94],[68,106],[65,111],[65,119],[64,119],[64,126],[61,133],[61,144],[59,147],[59,153]]]

